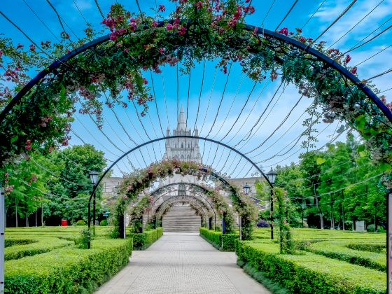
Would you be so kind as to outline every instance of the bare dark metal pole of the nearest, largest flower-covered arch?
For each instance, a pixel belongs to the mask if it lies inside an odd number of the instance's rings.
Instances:
[[[169,20],[169,23],[172,23],[173,20]],[[189,20],[188,20],[189,22]],[[158,27],[163,27],[165,25],[165,21],[160,21],[158,22]],[[384,116],[388,118],[388,120],[392,123],[392,112],[389,111],[389,109],[386,107],[386,105],[381,102],[379,97],[377,97],[376,94],[372,90],[370,90],[367,85],[360,83],[360,79],[357,78],[356,76],[353,75],[350,71],[348,71],[344,66],[341,64],[335,62],[335,60],[331,59],[330,57],[324,55],[322,52],[311,48],[309,45],[306,45],[300,41],[295,40],[294,38],[290,38],[289,36],[285,36],[283,34],[279,34],[276,31],[271,31],[269,29],[264,29],[261,27],[255,27],[253,25],[244,25],[244,29],[246,31],[255,31],[257,34],[262,35],[262,36],[267,36],[269,38],[274,38],[279,41],[283,41],[285,43],[288,43],[289,45],[293,45],[295,48],[299,48],[303,50],[304,52],[309,53],[310,55],[316,57],[317,59],[325,62],[328,64],[328,66],[332,67],[332,69],[336,69],[339,73],[341,73],[343,76],[351,80],[356,86],[367,96],[369,97],[374,104],[384,113]],[[32,78],[25,87],[22,87],[22,90],[20,90],[15,97],[7,104],[7,106],[3,109],[3,111],[0,113],[0,121],[2,121],[7,113],[13,109],[13,106],[18,104],[20,100],[22,99],[29,90],[31,90],[34,85],[36,85],[40,80],[42,80],[48,73],[51,73],[57,69],[61,64],[64,64],[67,62],[69,59],[72,59],[73,57],[76,57],[79,55],[81,52],[84,52],[85,50],[88,50],[90,48],[93,48],[101,43],[104,43],[106,41],[110,40],[110,34],[107,34],[106,36],[102,36],[100,38],[96,38],[93,41],[90,41],[89,43],[85,45],[81,45],[80,47],[76,48],[75,50],[72,50],[68,54],[64,55],[63,57],[57,59],[55,62],[50,64],[47,68],[45,68],[43,71],[38,73],[34,78]]]

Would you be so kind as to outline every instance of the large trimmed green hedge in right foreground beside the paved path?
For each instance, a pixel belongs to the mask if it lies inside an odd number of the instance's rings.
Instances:
[[[279,244],[237,242],[238,259],[293,293],[386,293],[386,274],[314,253],[279,254]]]

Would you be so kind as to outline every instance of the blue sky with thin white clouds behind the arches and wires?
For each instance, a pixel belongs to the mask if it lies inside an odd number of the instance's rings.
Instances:
[[[150,7],[155,6],[155,0],[142,0],[139,2],[141,3],[142,10],[149,14],[152,13]],[[158,4],[165,4],[167,6],[167,10],[172,10],[172,7],[174,6],[174,4],[169,1],[157,0],[156,2]],[[255,6],[256,11],[253,15],[246,18],[246,22],[251,25],[262,25],[260,22],[265,17],[272,2],[273,0],[253,0],[253,5]],[[272,6],[272,10],[269,12],[269,15],[265,18],[264,27],[267,29],[275,29],[293,2],[293,0],[276,1],[276,3]],[[288,27],[289,30],[294,30],[295,27],[302,27],[307,20],[309,20],[321,2],[322,1],[310,0],[298,1],[297,5],[288,18],[283,22],[281,27]],[[311,18],[304,27],[303,35],[316,38],[321,31],[328,27],[328,25],[330,25],[330,23],[335,20],[340,13],[342,13],[344,8],[346,8],[350,2],[351,1],[326,0],[320,10],[318,10],[314,17]],[[381,4],[379,4],[380,2]],[[38,20],[36,15],[31,12],[26,3],[29,4],[38,17],[45,22],[45,25],[50,29],[50,31],[58,36],[62,29],[57,20],[57,16],[45,0],[3,0],[1,1],[0,9],[11,20],[18,24],[34,41],[55,41],[55,37],[52,36],[49,29],[47,29],[41,21]],[[97,6],[95,6],[94,0],[52,0],[51,3],[61,15],[66,26],[68,26],[66,29],[71,34],[71,38],[83,36],[83,29],[85,28],[85,21],[79,13],[78,8],[81,13],[83,13],[84,18],[94,27],[101,27],[99,22],[102,21],[102,18],[101,15],[99,15],[99,11],[97,10]],[[99,3],[106,14],[113,1],[100,0]],[[120,1],[120,3],[125,3],[125,7],[128,10],[137,12],[135,1]],[[374,9],[374,11],[372,11],[365,20],[356,25],[356,23],[369,13],[374,6],[377,6],[377,4],[379,4],[379,6]],[[358,0],[351,10],[349,10],[349,12],[346,13],[339,22],[329,29],[321,39],[323,41],[327,41],[330,45],[335,43],[335,41],[344,35],[346,31],[351,29],[351,27],[356,25],[355,28],[353,28],[348,34],[346,34],[346,36],[334,45],[334,48],[347,50],[358,41],[361,41],[365,36],[372,33],[372,31],[377,29],[379,25],[391,18],[391,11],[392,0]],[[389,25],[391,25],[391,21],[386,22],[384,27],[374,31],[371,36],[379,33]],[[0,27],[1,33],[7,37],[13,38],[15,43],[24,43],[29,45],[29,41],[27,41],[27,39],[22,36],[17,29],[12,27],[12,25],[3,18],[0,18]],[[73,31],[76,36],[74,36],[71,31]],[[386,48],[388,45],[391,45],[391,34],[391,31],[388,31],[386,34],[379,36],[371,43],[351,52],[350,55],[352,60],[350,64],[358,64],[367,57],[370,57]],[[371,36],[368,38],[371,38]],[[391,48],[387,48],[367,62],[360,64],[358,66],[358,74],[360,78],[369,78],[370,76],[381,73],[386,69],[390,69],[392,64]],[[293,105],[300,98],[300,95],[292,85],[288,85],[284,92],[282,89],[279,90],[276,95],[276,98],[279,97],[279,101],[277,101],[275,105],[273,102],[269,106],[265,116],[263,116],[260,123],[255,127],[257,132],[252,134],[249,141],[241,141],[244,137],[246,137],[246,134],[257,122],[258,118],[260,118],[260,114],[264,111],[269,99],[271,99],[272,95],[279,86],[279,80],[274,81],[273,83],[266,81],[265,83],[257,85],[249,97],[249,101],[244,112],[241,116],[239,116],[241,107],[248,98],[253,83],[248,78],[241,76],[239,66],[233,66],[230,76],[225,75],[219,69],[216,71],[215,66],[216,62],[207,62],[204,86],[200,99],[199,116],[196,125],[199,130],[202,130],[202,136],[207,136],[207,134],[210,133],[209,138],[217,139],[218,141],[222,141],[230,146],[235,146],[237,144],[237,148],[244,153],[248,153],[268,138],[269,134],[274,130],[276,125],[281,123],[288,111],[290,111]],[[149,80],[149,85],[152,85],[150,73],[146,73],[146,78]],[[223,96],[221,109],[219,110],[218,116],[216,116],[218,105],[222,97],[223,87],[227,78],[228,87]],[[374,84],[377,85],[379,90],[387,90],[391,87],[390,80],[391,75],[386,75],[374,79]],[[202,64],[197,64],[195,69],[192,69],[191,72],[189,90],[188,127],[192,128],[193,125],[195,125],[195,119],[197,116],[201,81]],[[186,109],[188,101],[188,82],[188,76],[180,76],[179,103],[183,104],[184,109]],[[104,111],[106,124],[104,125],[103,131],[114,144],[111,144],[104,134],[97,130],[97,127],[94,126],[94,123],[88,116],[77,115],[77,119],[72,125],[73,130],[83,139],[83,141],[94,144],[94,146],[104,151],[106,158],[109,160],[115,160],[122,154],[123,151],[127,151],[134,147],[134,143],[130,140],[128,135],[136,141],[137,144],[146,141],[147,136],[143,127],[146,129],[148,136],[151,137],[151,139],[162,137],[159,120],[161,121],[162,130],[165,134],[165,130],[168,126],[170,129],[173,129],[176,125],[176,69],[173,67],[166,67],[162,74],[154,74],[153,85],[155,87],[159,118],[155,109],[155,102],[150,104],[151,110],[149,111],[148,116],[141,118],[143,126],[139,122],[133,106],[126,110],[117,107],[115,110],[120,122],[126,130],[126,132],[124,132],[123,127],[118,123],[113,112],[109,109]],[[392,91],[387,91],[384,93],[386,94],[388,101],[391,101],[391,98],[388,97],[388,94],[390,95],[391,92]],[[302,140],[299,141],[297,146],[293,146],[295,141],[292,144],[290,144],[290,142],[295,140],[295,138],[304,130],[302,120],[307,118],[307,114],[303,114],[303,112],[309,104],[311,104],[311,101],[303,98],[290,114],[286,123],[277,130],[263,146],[248,153],[248,156],[251,157],[252,160],[255,160],[255,162],[260,162],[259,165],[261,165],[266,171],[269,170],[270,167],[274,167],[276,164],[282,165],[290,162],[297,162],[297,156],[304,151],[300,149],[300,142]],[[267,113],[273,105],[274,107],[272,111],[267,116]],[[208,112],[207,108],[209,109]],[[141,109],[139,108],[139,111],[140,110]],[[239,116],[239,119],[230,131],[230,128],[235,123],[237,116]],[[262,123],[264,119],[265,121]],[[212,127],[214,120],[216,120],[216,123],[214,124],[214,127]],[[297,123],[295,123],[296,120]],[[290,128],[292,124],[293,126]],[[330,136],[336,130],[337,125],[339,124],[335,123],[327,126],[322,123],[317,126],[317,129],[320,132],[327,127],[318,135],[319,141],[316,144],[318,147],[323,146],[323,144],[330,139]],[[290,130],[288,130],[289,128]],[[225,137],[225,134],[229,131],[230,133],[227,137]],[[225,138],[223,139],[223,137]],[[342,135],[339,139],[344,140],[344,135]],[[80,139],[73,135],[71,144],[76,145],[80,143]],[[226,172],[231,177],[245,176],[246,174],[250,176],[253,172],[255,172],[254,169],[251,169],[251,165],[249,165],[245,160],[242,159],[239,161],[239,156],[235,157],[233,153],[229,153],[221,147],[217,148],[215,144],[204,144],[203,142],[200,142],[200,146],[202,148],[202,153],[204,149],[204,163],[209,165],[212,164],[214,168],[222,170],[222,172]],[[149,164],[151,161],[155,161],[155,158],[158,160],[162,158],[162,154],[165,152],[164,148],[164,141],[160,141],[159,143],[141,148],[141,153],[131,154],[128,159],[132,161],[132,165],[134,165],[134,167],[144,167],[146,165],[145,162]],[[290,151],[287,152],[289,149]],[[271,159],[267,160],[268,158]],[[126,159],[120,162],[118,167],[114,169],[114,174],[121,175],[121,171],[130,172],[130,170],[132,170],[132,167]]]

